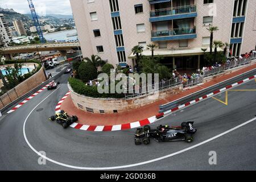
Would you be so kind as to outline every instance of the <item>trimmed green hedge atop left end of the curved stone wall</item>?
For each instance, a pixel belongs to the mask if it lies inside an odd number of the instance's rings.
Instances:
[[[69,78],[69,84],[71,85],[72,89],[81,95],[93,98],[123,98],[125,94],[118,94],[118,93],[98,93],[97,86],[87,86],[81,80],[76,78]]]

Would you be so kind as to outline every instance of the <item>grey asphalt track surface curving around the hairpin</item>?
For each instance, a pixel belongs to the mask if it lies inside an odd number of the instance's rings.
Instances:
[[[256,91],[228,92],[228,106],[209,98],[184,110],[168,115],[151,125],[180,125],[184,121],[195,121],[198,129],[193,143],[157,143],[151,140],[148,146],[135,146],[135,129],[125,131],[93,133],[69,127],[64,130],[48,117],[54,114],[55,106],[68,92],[67,78],[63,75],[56,81],[57,90],[44,90],[25,105],[0,119],[0,170],[76,170],[110,169],[118,170],[255,170],[256,169],[256,119],[219,138],[210,140],[190,150],[205,140],[216,137],[256,115]],[[234,88],[256,90],[255,80]],[[225,101],[225,93],[216,98]],[[26,119],[27,118],[27,119]],[[24,122],[26,121],[26,125]],[[49,160],[39,165],[36,151],[45,151]],[[216,151],[217,165],[209,165],[209,151]],[[162,160],[160,158],[178,152]],[[130,164],[148,162],[133,167]],[[80,168],[79,168],[80,167]],[[102,168],[103,167],[103,168]]]

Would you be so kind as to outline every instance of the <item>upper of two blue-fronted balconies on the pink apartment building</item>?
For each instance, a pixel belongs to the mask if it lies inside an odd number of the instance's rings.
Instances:
[[[179,6],[150,11],[150,22],[159,22],[164,20],[183,18],[195,18],[196,16],[196,5]]]

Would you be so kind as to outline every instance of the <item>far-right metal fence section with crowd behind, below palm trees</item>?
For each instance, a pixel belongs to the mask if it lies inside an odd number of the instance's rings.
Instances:
[[[225,65],[222,65],[221,67],[212,68],[212,69],[208,68],[207,70],[203,71],[203,77],[207,78],[210,76],[218,75],[220,73],[224,73],[225,71],[228,71],[229,69],[243,67],[244,65],[250,64],[251,61],[255,60],[255,59],[256,59],[256,56],[251,56],[251,57],[248,57],[247,59],[231,61],[230,63],[226,63]]]

